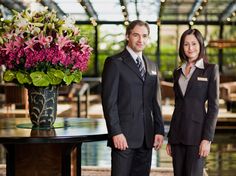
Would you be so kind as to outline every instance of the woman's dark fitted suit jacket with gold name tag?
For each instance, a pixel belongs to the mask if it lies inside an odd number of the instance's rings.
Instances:
[[[168,142],[199,145],[203,139],[212,141],[219,109],[218,67],[207,63],[204,63],[204,69],[197,67],[185,95],[178,83],[181,73],[181,69],[174,71],[175,109]]]

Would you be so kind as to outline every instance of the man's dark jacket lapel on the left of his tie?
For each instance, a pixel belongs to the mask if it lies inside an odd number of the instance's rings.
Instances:
[[[142,76],[140,74],[140,71],[138,70],[138,67],[136,63],[134,62],[134,59],[130,55],[130,53],[127,50],[124,50],[122,52],[121,57],[123,58],[124,63],[137,74],[137,76],[142,80]],[[146,61],[145,61],[146,62]],[[146,64],[146,63],[145,63]]]

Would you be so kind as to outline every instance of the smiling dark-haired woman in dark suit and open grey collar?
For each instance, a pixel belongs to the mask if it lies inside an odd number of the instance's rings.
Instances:
[[[219,72],[217,65],[208,63],[197,29],[182,34],[179,56],[182,66],[173,73],[175,108],[166,151],[175,176],[201,176],[216,127]]]

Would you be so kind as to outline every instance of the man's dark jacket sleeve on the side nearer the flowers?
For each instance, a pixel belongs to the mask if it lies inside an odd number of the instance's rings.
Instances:
[[[102,106],[109,137],[120,134],[117,107],[119,70],[112,58],[107,58],[102,73]]]

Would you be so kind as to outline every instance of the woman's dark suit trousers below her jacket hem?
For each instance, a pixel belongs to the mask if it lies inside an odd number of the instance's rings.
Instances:
[[[171,145],[175,176],[203,176],[205,159],[199,156],[199,146]]]

